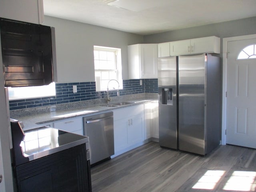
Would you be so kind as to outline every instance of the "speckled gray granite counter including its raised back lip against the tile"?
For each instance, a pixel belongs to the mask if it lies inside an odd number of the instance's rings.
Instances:
[[[144,104],[147,102],[157,102],[157,94],[136,94],[116,97],[112,98],[112,102],[110,102],[110,104],[124,101],[132,103],[122,106],[108,107],[106,106],[107,104],[105,100],[74,102],[70,103],[69,105],[65,104],[65,106],[56,105],[26,110],[14,110],[10,111],[10,118],[22,121],[24,124],[24,130],[28,130],[42,126],[42,124],[47,124],[59,120],[66,120],[68,118],[102,113],[118,108]]]

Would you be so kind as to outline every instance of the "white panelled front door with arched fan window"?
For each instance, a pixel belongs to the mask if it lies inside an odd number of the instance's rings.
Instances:
[[[256,39],[228,42],[227,60],[226,143],[250,148],[256,148],[254,44]]]

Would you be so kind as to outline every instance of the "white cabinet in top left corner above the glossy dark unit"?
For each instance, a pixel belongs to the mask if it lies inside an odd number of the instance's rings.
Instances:
[[[43,0],[1,0],[0,17],[35,24],[44,22]]]

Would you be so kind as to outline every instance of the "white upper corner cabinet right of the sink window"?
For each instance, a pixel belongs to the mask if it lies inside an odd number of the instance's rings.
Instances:
[[[157,44],[128,46],[129,79],[157,78]]]

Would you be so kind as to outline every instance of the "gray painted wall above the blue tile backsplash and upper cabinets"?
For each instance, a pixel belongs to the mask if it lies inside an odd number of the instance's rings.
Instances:
[[[121,48],[122,76],[128,79],[127,45],[218,36],[222,51],[222,38],[256,33],[256,17],[146,36],[50,16],[44,25],[55,27],[58,82],[94,81],[94,45]]]

